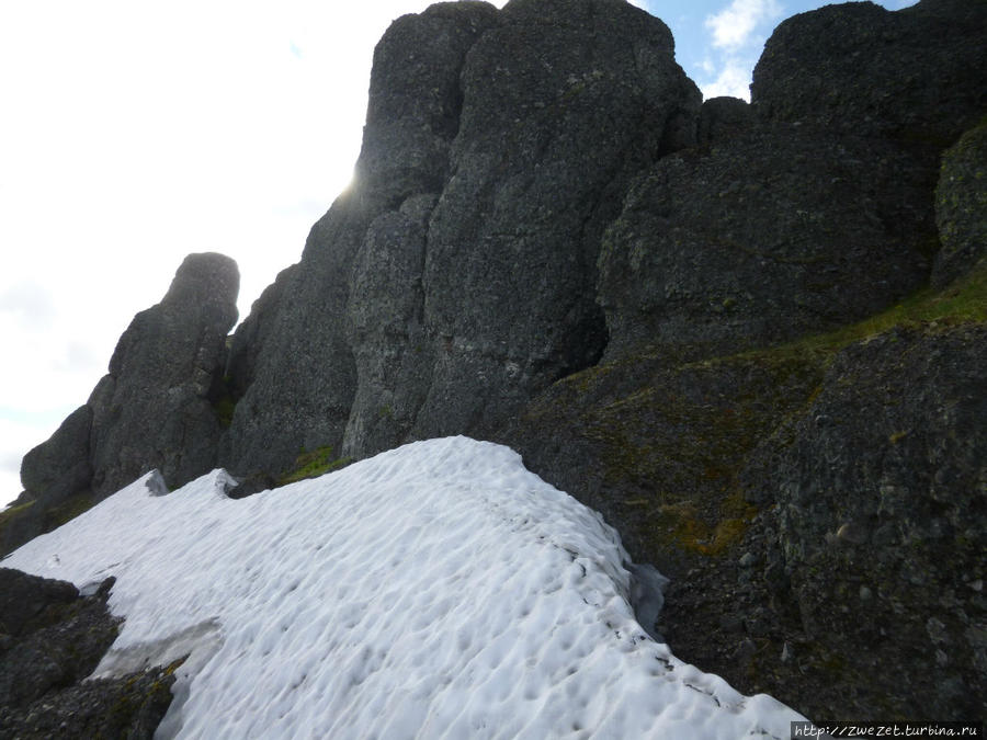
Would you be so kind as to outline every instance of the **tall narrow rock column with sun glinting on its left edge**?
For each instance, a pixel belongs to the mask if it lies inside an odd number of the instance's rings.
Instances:
[[[356,392],[347,339],[354,257],[374,219],[444,182],[463,59],[497,14],[487,3],[444,3],[398,19],[377,44],[353,185],[313,227],[234,413],[227,465],[237,473],[280,473],[299,449],[341,447]]]

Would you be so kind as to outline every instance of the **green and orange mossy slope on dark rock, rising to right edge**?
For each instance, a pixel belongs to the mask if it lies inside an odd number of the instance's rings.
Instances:
[[[987,322],[987,261],[942,291],[924,289],[858,323],[784,345],[690,361],[645,348],[555,384],[529,407],[534,429],[571,430],[601,474],[593,499],[642,559],[736,554],[757,509],[741,473],[760,445],[790,443],[787,421],[822,390],[848,345],[900,329]],[[889,443],[908,430],[894,430]],[[757,476],[749,476],[756,479]]]

